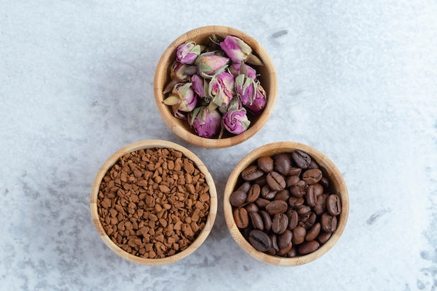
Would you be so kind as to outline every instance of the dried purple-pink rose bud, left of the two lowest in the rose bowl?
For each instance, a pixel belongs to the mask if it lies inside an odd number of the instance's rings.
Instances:
[[[217,110],[209,111],[209,107],[195,108],[188,116],[188,122],[201,137],[212,137],[220,131],[221,115]]]

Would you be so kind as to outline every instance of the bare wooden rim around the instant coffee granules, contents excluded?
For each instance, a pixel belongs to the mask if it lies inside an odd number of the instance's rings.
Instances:
[[[128,154],[133,151],[139,151],[140,149],[149,149],[149,148],[167,148],[167,149],[175,149],[177,151],[181,151],[182,154],[186,156],[186,158],[193,161],[193,163],[198,167],[198,170],[200,170],[200,172],[205,174],[205,181],[209,186],[210,205],[209,205],[209,215],[207,217],[205,227],[200,231],[198,237],[195,238],[195,240],[188,246],[188,248],[186,248],[184,251],[181,251],[180,253],[176,253],[175,255],[171,255],[165,258],[142,258],[139,256],[131,255],[131,253],[127,253],[119,246],[117,246],[117,244],[114,244],[114,242],[110,239],[108,234],[106,234],[98,215],[98,204],[97,204],[98,192],[102,179],[103,177],[105,177],[106,172],[108,172],[108,170],[110,170],[110,168],[115,163],[117,163],[119,158],[121,156],[124,156],[124,154]],[[186,256],[193,253],[197,248],[200,247],[203,241],[205,241],[209,232],[211,232],[212,230],[216,218],[216,214],[217,214],[216,187],[214,185],[214,181],[211,177],[211,174],[209,174],[207,170],[207,167],[205,167],[202,161],[200,161],[200,159],[188,149],[180,146],[179,144],[166,142],[163,140],[145,140],[141,142],[135,142],[133,144],[129,144],[126,147],[119,149],[116,153],[110,156],[110,158],[108,158],[108,161],[106,161],[101,167],[101,169],[98,170],[96,178],[94,179],[94,184],[92,185],[91,188],[91,217],[94,221],[94,225],[101,239],[103,239],[105,244],[112,251],[114,251],[114,253],[121,256],[121,258],[124,258],[126,260],[138,264],[146,264],[146,265],[153,266],[153,265],[169,264],[172,262],[177,262],[179,260],[182,260],[183,258],[186,258]]]

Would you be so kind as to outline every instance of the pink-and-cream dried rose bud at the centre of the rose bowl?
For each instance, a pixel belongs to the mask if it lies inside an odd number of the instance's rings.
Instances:
[[[218,107],[227,107],[235,94],[235,79],[228,72],[222,72],[209,81],[209,97]]]

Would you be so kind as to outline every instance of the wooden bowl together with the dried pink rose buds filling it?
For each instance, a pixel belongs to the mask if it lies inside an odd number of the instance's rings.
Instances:
[[[221,47],[223,47],[221,43],[225,43],[227,37],[232,41],[236,40],[239,44],[242,43],[242,48],[236,52],[230,52],[229,55],[229,51],[221,51]],[[186,47],[185,50],[179,48],[187,43],[192,44],[191,47]],[[250,52],[247,47],[249,47]],[[188,52],[188,50],[191,51]],[[183,59],[186,54],[191,54],[191,52],[198,54],[197,58],[194,56],[191,58],[191,64],[184,66],[184,70],[178,70],[181,66],[181,58]],[[206,55],[211,52],[220,54],[221,56],[217,57],[219,59],[228,58],[228,63],[223,68],[217,68],[217,70],[213,68],[214,72],[208,71],[205,66],[209,68],[210,63],[207,64],[207,61],[202,60],[206,59]],[[202,57],[203,54],[205,54],[205,58]],[[188,57],[186,58],[188,59]],[[175,63],[176,61],[177,63]],[[216,60],[212,62],[213,66],[217,64]],[[179,67],[176,69],[176,66]],[[182,74],[180,74],[181,71]],[[250,101],[247,101],[246,97],[244,97],[246,99],[238,98],[235,88],[235,84],[238,84],[235,82],[236,77],[242,74],[247,76],[248,71],[255,72],[256,77],[252,77],[250,80],[253,79],[253,82],[248,84],[253,84],[253,91],[257,91],[258,94],[251,95],[253,97],[249,98]],[[225,78],[220,80],[223,75],[228,77],[231,73],[235,76],[235,80],[230,80],[230,82]],[[197,90],[191,91],[192,88],[194,89],[193,75],[196,75],[195,77],[201,75],[200,79],[205,84],[202,88],[205,89],[202,94],[205,96],[200,96],[201,94]],[[227,84],[225,93],[228,95],[223,95],[223,97],[221,95],[223,90],[216,89],[212,80],[222,85],[223,83]],[[240,79],[239,82],[241,86],[242,80]],[[183,86],[187,83],[188,85]],[[229,83],[231,84],[228,85]],[[190,87],[190,84],[193,86]],[[186,94],[187,89],[188,94]],[[220,94],[217,93],[218,91]],[[242,87],[239,87],[238,92],[242,93],[242,91]],[[244,94],[247,92],[249,91],[244,89]],[[165,124],[183,140],[199,147],[231,147],[255,135],[272,114],[276,103],[276,94],[276,71],[267,52],[257,40],[247,33],[231,27],[200,27],[179,36],[163,52],[154,76],[156,106]],[[264,98],[265,104],[260,110],[246,107],[249,103],[250,105],[256,103],[256,101],[252,102],[255,100],[255,96],[256,98],[258,96]],[[196,103],[195,106],[191,101]],[[197,109],[193,109],[194,107]]]

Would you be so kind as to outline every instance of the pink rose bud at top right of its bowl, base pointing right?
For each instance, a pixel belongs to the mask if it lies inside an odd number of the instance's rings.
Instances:
[[[220,47],[234,63],[246,61],[249,64],[262,66],[262,61],[252,54],[252,48],[236,36],[226,36]]]

